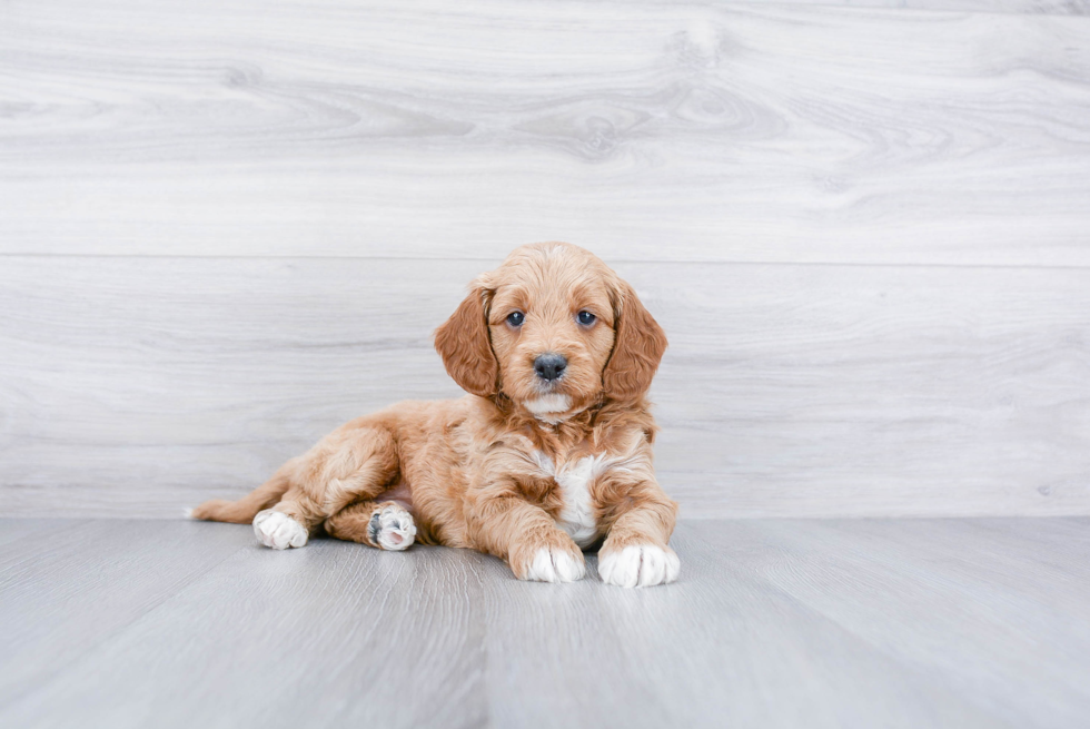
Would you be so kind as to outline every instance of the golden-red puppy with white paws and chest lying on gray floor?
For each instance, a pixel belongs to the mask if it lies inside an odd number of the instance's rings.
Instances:
[[[583,549],[601,544],[604,582],[677,579],[644,398],[666,337],[628,284],[576,246],[523,246],[472,284],[435,347],[467,396],[351,421],[192,516],[252,521],[274,549],[320,526],[384,550],[475,549],[544,582],[583,578]]]

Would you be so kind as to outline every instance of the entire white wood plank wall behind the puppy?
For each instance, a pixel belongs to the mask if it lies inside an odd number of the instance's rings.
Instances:
[[[542,239],[666,326],[686,516],[1090,513],[1087,11],[7,2],[0,513],[456,395],[432,329]]]

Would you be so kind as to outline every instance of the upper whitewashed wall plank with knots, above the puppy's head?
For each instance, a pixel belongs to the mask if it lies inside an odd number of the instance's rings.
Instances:
[[[1090,19],[982,4],[7,2],[0,253],[1090,266]]]

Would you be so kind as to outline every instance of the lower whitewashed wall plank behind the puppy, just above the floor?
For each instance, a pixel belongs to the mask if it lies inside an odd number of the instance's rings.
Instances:
[[[9,257],[0,508],[175,516],[340,423],[457,396],[474,262]],[[624,264],[695,518],[1090,512],[1084,269]]]

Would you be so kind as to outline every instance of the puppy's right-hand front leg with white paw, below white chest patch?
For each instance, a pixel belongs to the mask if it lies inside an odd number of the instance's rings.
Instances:
[[[677,504],[654,481],[627,486],[612,508],[610,535],[598,550],[598,577],[622,588],[647,588],[677,579],[681,561],[670,549]]]

